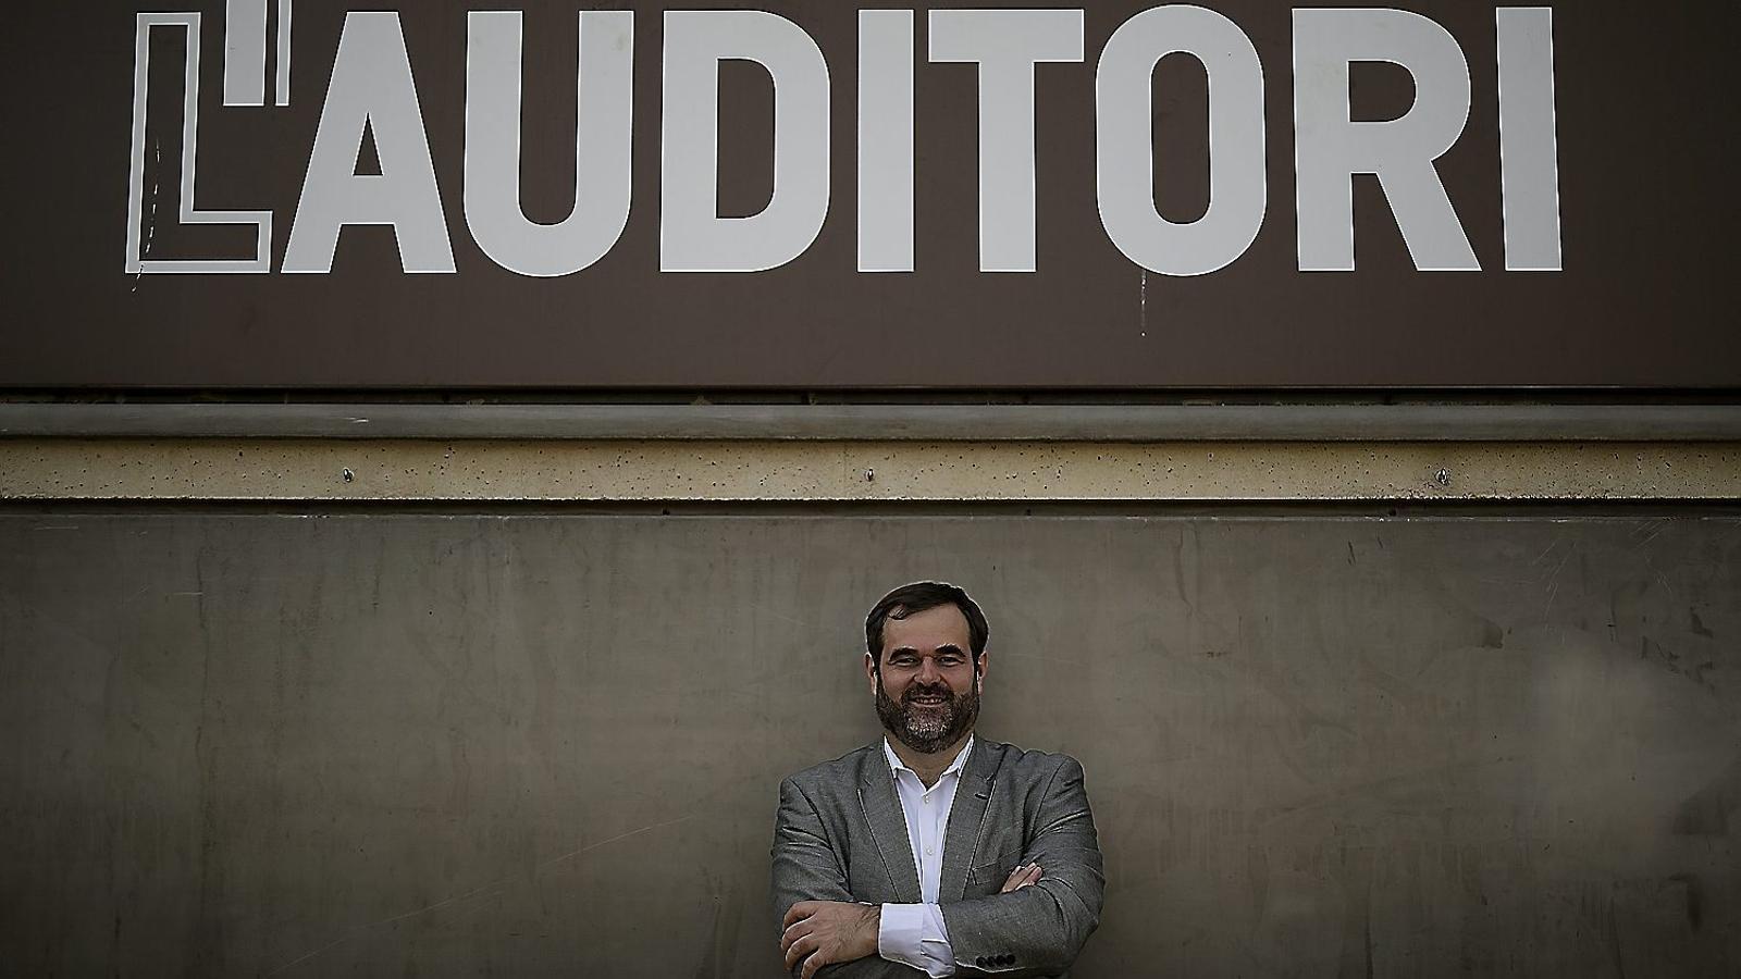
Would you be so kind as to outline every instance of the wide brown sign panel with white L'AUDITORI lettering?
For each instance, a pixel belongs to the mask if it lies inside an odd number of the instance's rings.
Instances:
[[[1741,385],[1727,5],[155,7],[14,16],[0,387]]]

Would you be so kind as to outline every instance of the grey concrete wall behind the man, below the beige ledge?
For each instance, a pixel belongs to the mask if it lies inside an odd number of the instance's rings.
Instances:
[[[776,976],[776,782],[947,577],[1083,977],[1741,967],[1736,510],[1036,514],[0,509],[0,962]]]

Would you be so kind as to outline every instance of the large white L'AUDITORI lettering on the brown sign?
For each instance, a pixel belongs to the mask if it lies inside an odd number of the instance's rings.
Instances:
[[[1036,87],[1053,64],[1085,61],[1079,9],[938,9],[926,16],[924,57],[978,71],[978,268],[1036,270]],[[141,24],[151,14],[141,14]],[[197,24],[195,24],[197,26]],[[578,12],[575,197],[555,223],[521,207],[522,16],[472,10],[465,44],[465,226],[500,267],[573,275],[616,244],[630,211],[634,131],[632,10]],[[1548,7],[1494,16],[1504,267],[1560,268],[1553,19]],[[146,26],[141,26],[141,38]],[[830,78],[857,71],[857,267],[914,270],[914,120],[919,59],[914,10],[860,10],[857,52],[823,52],[797,23],[764,10],[665,10],[660,106],[660,270],[761,272],[817,239],[830,211]],[[1170,221],[1154,204],[1153,80],[1161,57],[1184,54],[1208,78],[1208,207]],[[139,246],[143,85],[136,54],[129,272],[270,272],[256,261],[146,261]],[[721,216],[719,64],[749,61],[773,80],[773,193],[750,216]],[[1396,118],[1356,120],[1349,68],[1402,66],[1414,103]],[[1260,63],[1234,21],[1193,5],[1126,19],[1095,64],[1095,197],[1112,244],[1165,275],[1203,275],[1238,260],[1271,204],[1266,186],[1266,71],[1294,82],[1294,207],[1304,272],[1354,268],[1353,174],[1375,174],[1419,270],[1476,270],[1475,251],[1440,181],[1438,160],[1469,118],[1471,66],[1436,21],[1396,9],[1297,9],[1292,64]],[[192,73],[190,73],[192,82]],[[193,155],[193,99],[186,138]],[[1083,106],[1086,111],[1090,106]],[[373,134],[380,172],[359,174]],[[1160,174],[1166,179],[1166,174]],[[195,213],[186,219],[254,223],[270,211]],[[390,225],[406,272],[454,272],[453,244],[423,125],[416,70],[392,10],[345,16],[282,272],[333,268],[346,225]]]

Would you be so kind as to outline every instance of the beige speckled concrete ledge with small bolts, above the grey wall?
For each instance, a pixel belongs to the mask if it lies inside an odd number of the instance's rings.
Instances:
[[[1741,441],[0,439],[0,500],[1741,500]]]

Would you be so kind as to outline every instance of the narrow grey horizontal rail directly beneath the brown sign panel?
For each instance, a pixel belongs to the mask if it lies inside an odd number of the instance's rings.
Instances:
[[[0,439],[1711,442],[1741,404],[0,404]]]

